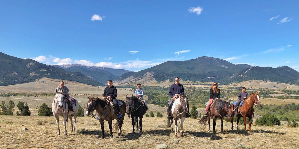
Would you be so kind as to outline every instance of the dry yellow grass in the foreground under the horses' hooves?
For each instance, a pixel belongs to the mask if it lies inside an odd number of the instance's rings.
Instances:
[[[38,116],[0,116],[0,148],[155,148],[158,144],[167,144],[169,148],[298,148],[299,128],[286,126],[265,127],[252,125],[252,133],[243,130],[230,131],[231,124],[224,122],[225,134],[220,133],[220,120],[217,120],[216,131],[207,131],[207,126],[196,124],[197,119],[185,119],[184,137],[179,142],[169,128],[164,128],[166,118],[144,117],[144,134],[132,134],[131,122],[124,120],[123,133],[109,138],[108,123],[105,122],[105,138],[100,139],[100,124],[91,117],[78,117],[77,130],[68,136],[57,133],[56,122],[53,117]],[[37,125],[38,121],[42,125]],[[62,117],[60,117],[62,124]],[[24,125],[24,126],[22,126]],[[25,127],[28,131],[22,131]],[[248,127],[248,126],[247,126]],[[235,128],[235,127],[234,127]],[[243,128],[240,125],[240,128]],[[61,131],[63,126],[60,125]],[[150,137],[146,135],[149,134]],[[240,139],[241,141],[234,141]]]

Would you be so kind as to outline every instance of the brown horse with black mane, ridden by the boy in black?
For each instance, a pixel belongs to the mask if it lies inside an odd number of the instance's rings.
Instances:
[[[118,100],[118,102],[122,102],[123,104],[119,106],[120,109],[120,114],[122,117],[118,118],[118,115],[115,111],[113,111],[113,106],[111,105],[110,102],[107,100],[102,100],[98,97],[94,98],[88,97],[88,102],[87,102],[87,108],[86,108],[86,115],[89,116],[90,114],[92,117],[98,115],[98,119],[100,124],[101,124],[101,129],[102,129],[102,136],[101,139],[104,138],[104,120],[108,121],[109,124],[109,129],[110,129],[110,138],[113,137],[112,135],[112,119],[116,119],[117,122],[115,122],[113,129],[117,130],[119,127],[118,131],[118,136],[121,134],[121,126],[123,125],[123,118],[126,113],[126,104],[122,100]],[[92,112],[96,110],[98,114],[93,115]]]

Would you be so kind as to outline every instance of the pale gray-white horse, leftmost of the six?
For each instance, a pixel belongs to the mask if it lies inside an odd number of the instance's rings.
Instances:
[[[69,118],[71,121],[71,131],[76,130],[76,119],[77,119],[77,113],[79,109],[79,103],[76,100],[76,105],[73,103],[73,111],[68,111],[68,100],[64,97],[62,94],[62,91],[57,91],[56,89],[56,95],[54,97],[53,103],[52,103],[52,112],[54,115],[54,118],[56,119],[56,124],[57,124],[57,134],[60,135],[60,129],[59,129],[59,116],[63,117],[63,125],[64,125],[64,135],[68,135],[66,133],[66,121]],[[73,119],[72,119],[72,114],[74,114],[74,127],[73,127]]]

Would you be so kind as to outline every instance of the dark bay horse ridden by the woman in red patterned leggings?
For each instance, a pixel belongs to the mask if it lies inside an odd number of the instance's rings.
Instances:
[[[210,108],[210,112],[208,114],[208,117],[203,116],[199,120],[199,124],[205,125],[208,121],[209,123],[209,131],[210,129],[210,117],[213,117],[213,133],[216,134],[216,119],[220,118],[221,120],[221,133],[223,134],[223,119],[225,117],[231,117],[232,116],[232,111],[231,111],[231,100],[228,102],[222,101],[222,100],[215,100],[214,105]]]

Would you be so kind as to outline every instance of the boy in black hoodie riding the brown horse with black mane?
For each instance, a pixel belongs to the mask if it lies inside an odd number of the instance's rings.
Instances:
[[[103,94],[103,99],[109,99],[109,100],[112,100],[117,112],[118,112],[118,118],[121,117],[121,114],[119,113],[120,110],[119,110],[119,106],[117,104],[117,100],[115,99],[117,97],[117,90],[116,88],[112,85],[112,80],[108,80],[107,81],[107,85],[108,87],[105,88],[104,90],[104,94]]]

